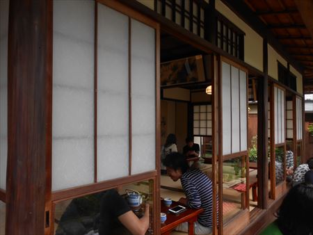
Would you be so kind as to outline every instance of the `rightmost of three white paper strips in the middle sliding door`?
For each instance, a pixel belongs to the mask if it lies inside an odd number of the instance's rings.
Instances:
[[[247,74],[240,70],[240,151],[247,147]]]

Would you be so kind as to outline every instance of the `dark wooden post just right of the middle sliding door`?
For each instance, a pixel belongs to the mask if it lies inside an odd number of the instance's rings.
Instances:
[[[263,40],[264,77],[257,82],[257,165],[258,206],[266,209],[268,206],[268,51],[267,40]]]

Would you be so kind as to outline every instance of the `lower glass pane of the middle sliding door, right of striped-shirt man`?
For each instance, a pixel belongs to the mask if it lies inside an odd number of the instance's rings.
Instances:
[[[223,161],[223,220],[230,220],[246,201],[246,163],[243,157]]]

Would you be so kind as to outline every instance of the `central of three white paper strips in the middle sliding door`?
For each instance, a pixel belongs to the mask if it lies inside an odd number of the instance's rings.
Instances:
[[[240,116],[239,116],[239,70],[231,67],[232,75],[232,153],[240,152]]]

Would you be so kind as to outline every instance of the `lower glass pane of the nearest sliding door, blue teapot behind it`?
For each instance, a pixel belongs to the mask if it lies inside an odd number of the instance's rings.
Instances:
[[[152,193],[153,181],[149,180],[59,202],[54,211],[55,234],[101,235],[109,231],[110,235],[134,234],[120,220],[129,211],[142,218],[141,225],[148,227],[146,234],[153,234]],[[146,202],[150,204],[150,213],[144,216]]]

